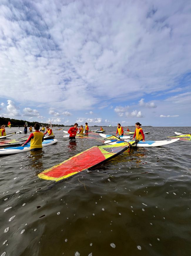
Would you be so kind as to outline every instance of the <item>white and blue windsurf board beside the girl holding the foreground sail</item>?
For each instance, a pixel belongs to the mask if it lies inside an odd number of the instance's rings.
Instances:
[[[137,146],[137,147],[160,147],[160,146],[164,146],[164,145],[173,143],[173,142],[178,141],[178,140],[179,140],[179,138],[171,139],[171,140],[165,140],[165,141],[139,141],[139,142],[137,142],[137,144],[134,144],[132,146]],[[124,140],[124,141],[130,142],[129,140]],[[124,141],[110,140],[110,141],[105,141],[104,143],[105,144],[110,143],[110,144],[113,145],[113,143],[114,144],[120,144],[120,143],[123,143]]]

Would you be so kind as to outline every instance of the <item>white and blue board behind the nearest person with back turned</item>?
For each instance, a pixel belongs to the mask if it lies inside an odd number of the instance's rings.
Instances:
[[[56,143],[57,140],[56,139],[51,139],[51,140],[45,140],[42,142],[42,146],[49,146],[51,144]],[[17,154],[17,153],[22,153],[22,152],[26,152],[26,151],[30,151],[30,143],[27,144],[24,147],[18,146],[18,147],[8,147],[5,149],[0,149],[0,155],[10,155],[10,154]]]

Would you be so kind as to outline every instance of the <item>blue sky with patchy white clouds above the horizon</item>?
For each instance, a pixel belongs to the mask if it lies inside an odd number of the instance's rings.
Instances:
[[[0,116],[191,126],[190,0],[1,0]]]

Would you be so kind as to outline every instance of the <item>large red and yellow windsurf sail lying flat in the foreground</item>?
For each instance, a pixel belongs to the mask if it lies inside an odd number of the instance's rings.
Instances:
[[[121,144],[93,146],[64,162],[57,164],[38,174],[38,177],[45,180],[59,181],[82,172],[86,169],[92,169],[103,162],[121,154],[129,148],[129,144],[123,141]]]

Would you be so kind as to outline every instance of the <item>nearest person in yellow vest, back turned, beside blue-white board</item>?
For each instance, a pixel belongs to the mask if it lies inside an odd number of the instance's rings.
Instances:
[[[21,146],[24,147],[27,143],[31,141],[31,151],[37,151],[42,149],[42,142],[44,140],[44,135],[39,131],[40,125],[39,123],[35,123],[34,125],[35,132],[31,133],[28,140],[22,144]]]

